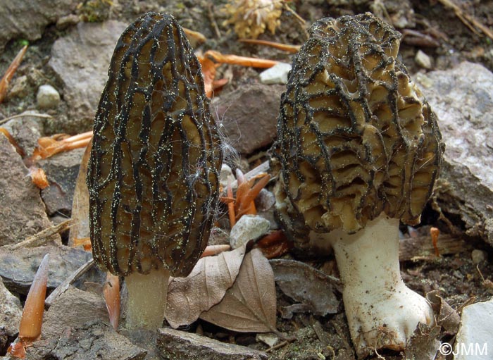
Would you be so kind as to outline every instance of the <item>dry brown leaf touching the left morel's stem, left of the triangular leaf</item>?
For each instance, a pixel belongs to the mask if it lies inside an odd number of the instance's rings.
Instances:
[[[222,252],[199,260],[187,278],[172,278],[168,285],[166,320],[172,328],[188,325],[202,311],[211,309],[223,299],[237,278],[245,247]]]

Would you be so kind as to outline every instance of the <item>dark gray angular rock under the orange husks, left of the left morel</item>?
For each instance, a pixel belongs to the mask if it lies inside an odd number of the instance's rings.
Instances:
[[[50,186],[41,192],[46,212],[50,216],[55,213],[70,215],[75,182],[84,151],[85,149],[75,149],[62,152],[38,162],[50,182]]]

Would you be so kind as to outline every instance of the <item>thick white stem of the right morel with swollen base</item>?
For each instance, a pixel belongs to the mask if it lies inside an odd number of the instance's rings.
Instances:
[[[399,271],[399,220],[380,215],[363,230],[326,235],[344,283],[344,309],[357,352],[404,349],[418,323],[430,325],[430,303],[406,287]]]

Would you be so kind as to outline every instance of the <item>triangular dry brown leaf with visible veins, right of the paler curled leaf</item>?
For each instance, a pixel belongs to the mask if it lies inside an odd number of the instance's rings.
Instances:
[[[259,249],[245,255],[235,284],[200,318],[239,332],[275,332],[274,273]]]

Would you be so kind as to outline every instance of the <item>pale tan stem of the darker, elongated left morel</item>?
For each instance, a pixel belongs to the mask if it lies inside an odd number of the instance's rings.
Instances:
[[[147,275],[132,273],[125,277],[128,329],[161,328],[166,315],[169,278],[167,269],[152,270]]]

